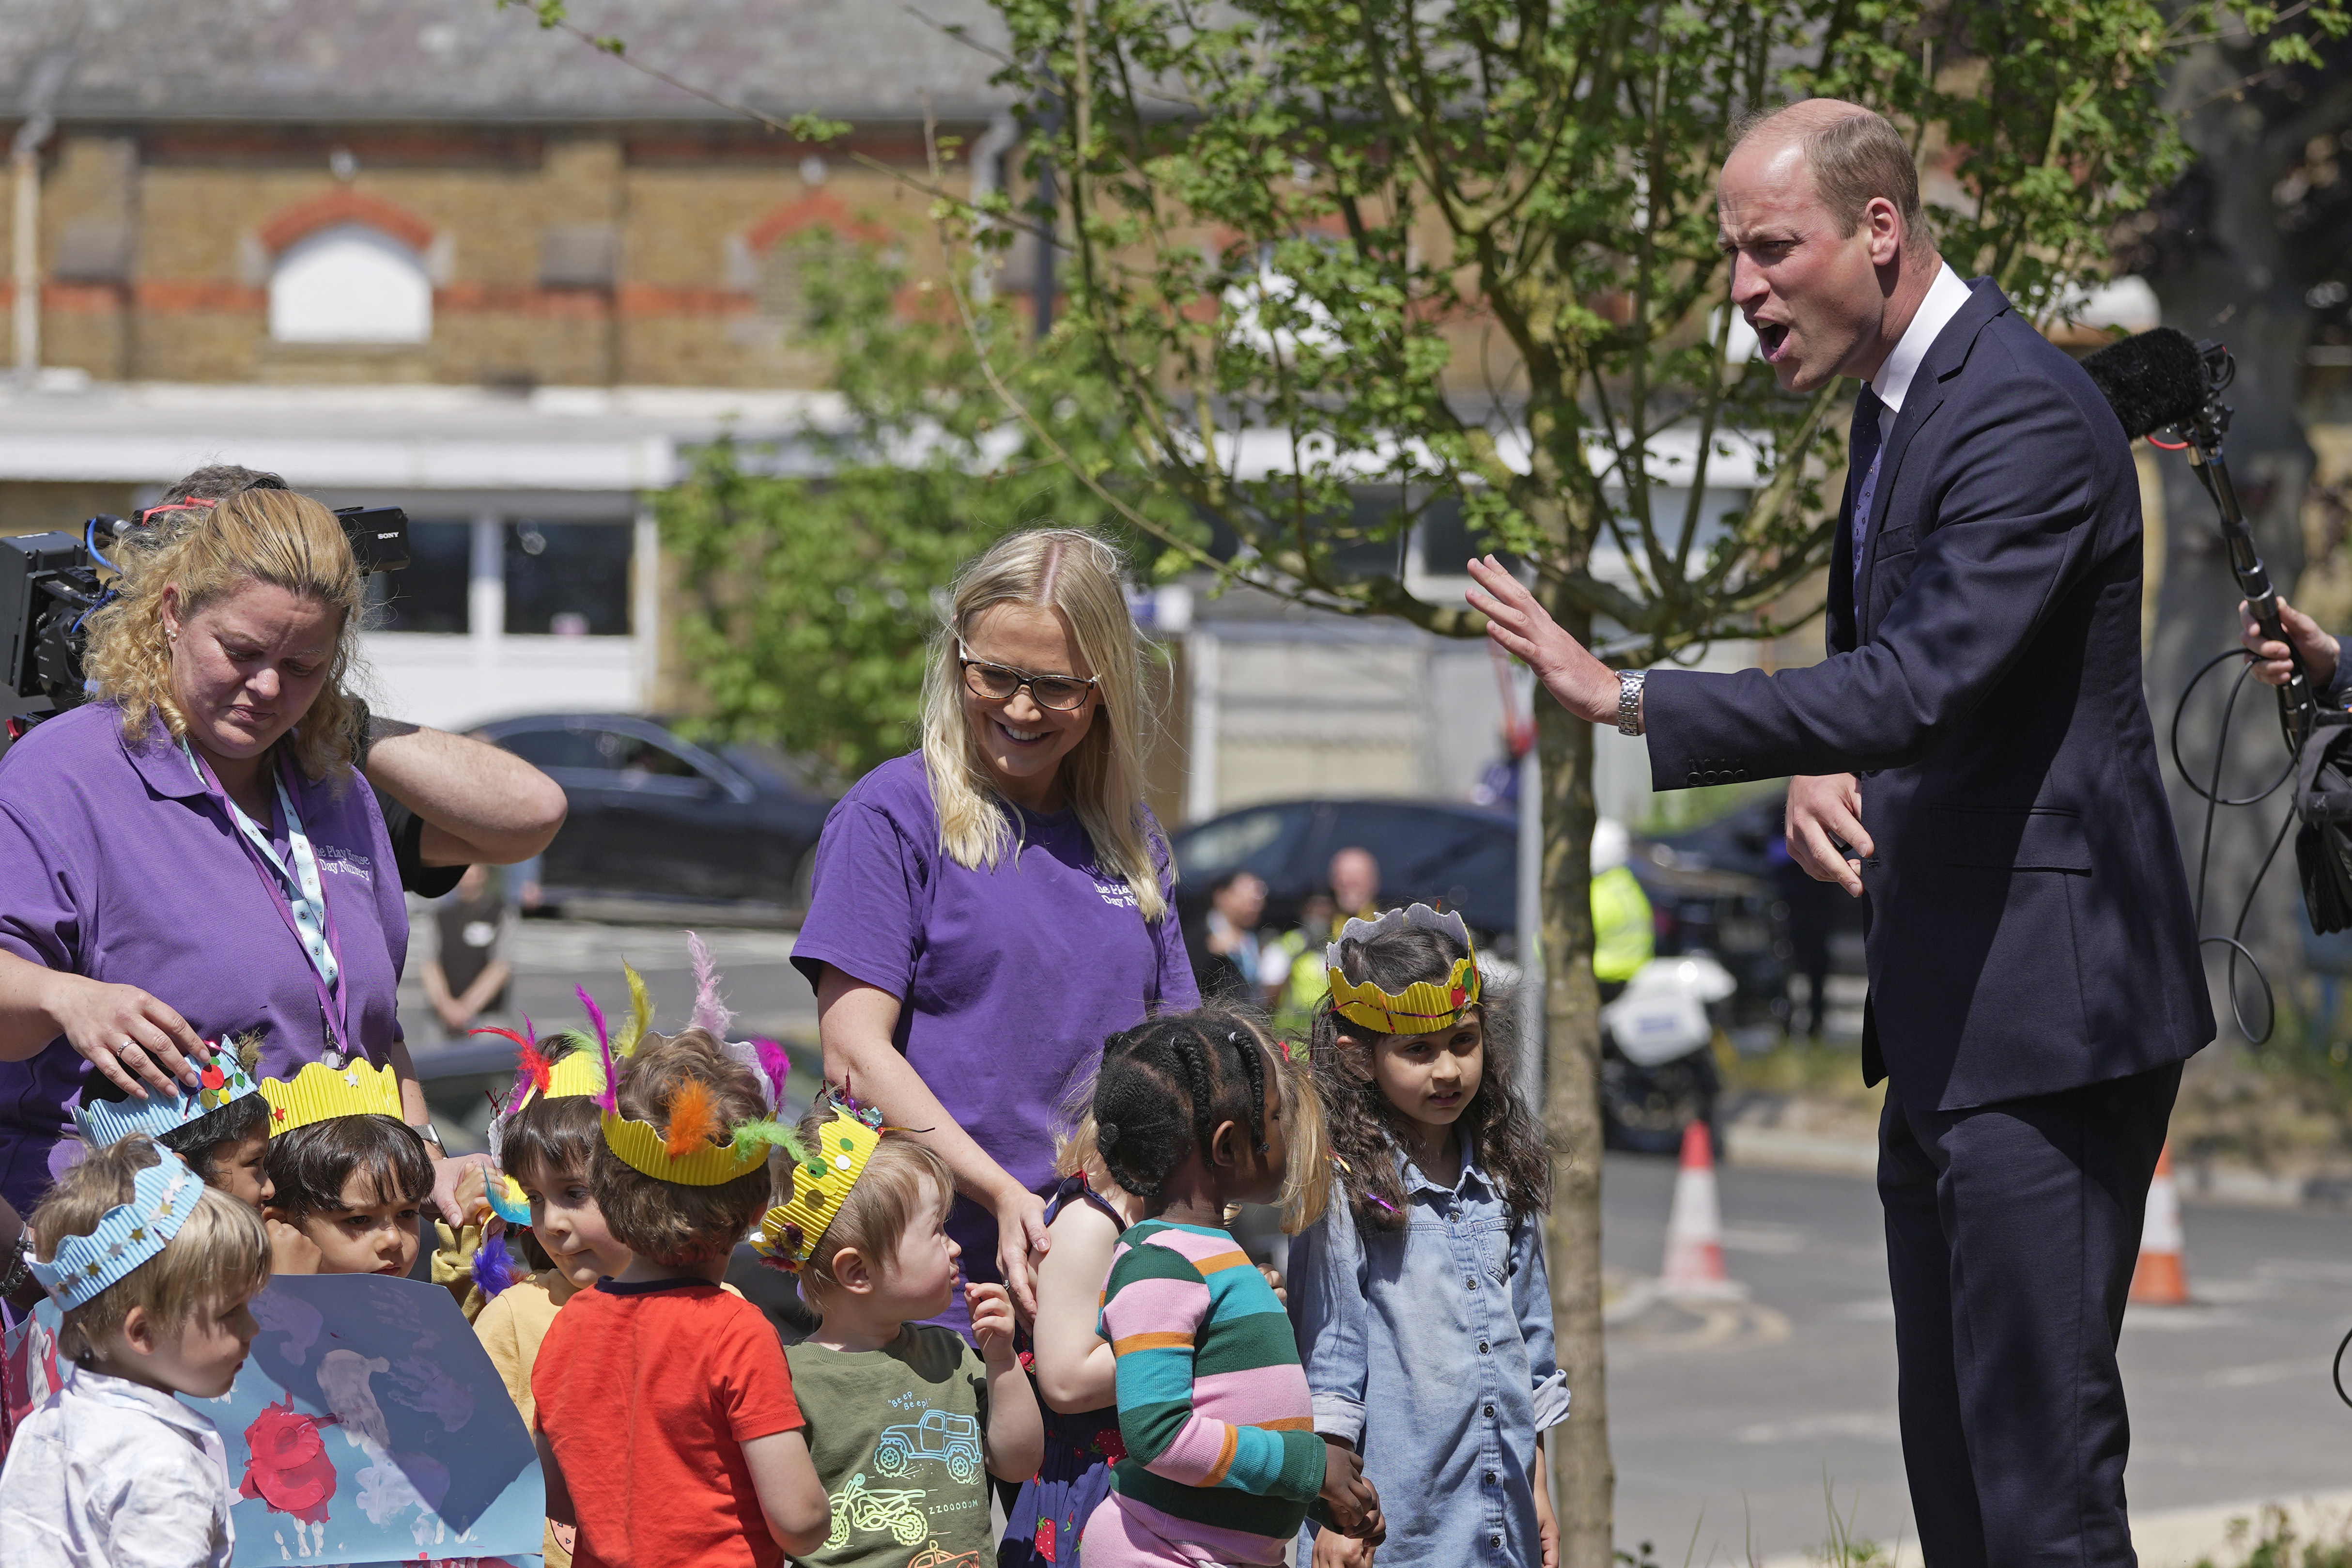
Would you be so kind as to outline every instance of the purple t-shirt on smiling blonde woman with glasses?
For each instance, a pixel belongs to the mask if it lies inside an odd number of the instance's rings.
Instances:
[[[833,964],[898,997],[908,1065],[990,1159],[1044,1190],[1077,1072],[1110,1034],[1200,1006],[1200,990],[1174,910],[1145,924],[1127,882],[1094,863],[1075,811],[1007,809],[1018,853],[967,870],[938,849],[922,752],[861,778],[816,842],[793,964],[809,985]],[[1171,891],[1167,839],[1143,818]],[[957,1201],[948,1229],[964,1274],[995,1279],[995,1218]],[[950,1316],[962,1324],[962,1300]]]

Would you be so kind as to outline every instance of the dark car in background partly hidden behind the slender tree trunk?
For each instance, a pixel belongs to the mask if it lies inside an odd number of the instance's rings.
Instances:
[[[1265,924],[1291,929],[1298,905],[1324,886],[1331,856],[1369,849],[1381,863],[1381,903],[1423,900],[1461,910],[1482,945],[1510,954],[1519,924],[1519,820],[1461,802],[1289,799],[1242,806],[1171,837],[1176,910],[1197,931],[1209,884],[1228,870],[1265,882]],[[1658,922],[1658,954],[1712,952],[1740,983],[1733,1023],[1788,1009],[1788,943],[1773,884],[1738,867],[1679,865],[1635,842],[1632,875]]]

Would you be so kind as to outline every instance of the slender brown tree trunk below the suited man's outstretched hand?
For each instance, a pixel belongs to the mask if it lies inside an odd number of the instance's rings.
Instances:
[[[1552,618],[1590,644],[1592,618],[1555,595]],[[1602,1039],[1592,983],[1592,726],[1536,696],[1543,752],[1543,1121],[1552,1133],[1552,1335],[1569,1420],[1552,1429],[1562,1568],[1611,1568],[1616,1530],[1602,1345]]]

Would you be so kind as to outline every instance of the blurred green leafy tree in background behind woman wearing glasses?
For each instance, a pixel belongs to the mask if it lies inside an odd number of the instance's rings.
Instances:
[[[682,578],[694,724],[856,778],[915,745],[934,595],[962,559],[1033,522],[1131,543],[1127,515],[1167,503],[1122,480],[1136,494],[1110,491],[1115,512],[1073,477],[1068,461],[1117,470],[1122,437],[1082,343],[1037,353],[1004,310],[969,301],[967,334],[946,292],[889,252],[828,233],[795,244],[837,414],[790,449],[713,442],[656,515]],[[1035,404],[1061,456],[1040,456],[988,376]]]

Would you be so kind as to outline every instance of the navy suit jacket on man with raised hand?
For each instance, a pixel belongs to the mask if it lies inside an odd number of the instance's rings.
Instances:
[[[1990,280],[1936,336],[1853,484],[1830,658],[1656,670],[1656,788],[1860,773],[1870,1081],[1964,1110],[2213,1039],[2140,691],[2140,487],[2091,378]]]

